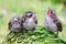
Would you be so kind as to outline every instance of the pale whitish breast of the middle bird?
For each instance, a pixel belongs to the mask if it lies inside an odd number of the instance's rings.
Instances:
[[[24,26],[26,30],[32,30],[33,28],[36,26],[36,24],[34,23],[33,19],[28,19],[28,20],[23,23],[23,26]]]

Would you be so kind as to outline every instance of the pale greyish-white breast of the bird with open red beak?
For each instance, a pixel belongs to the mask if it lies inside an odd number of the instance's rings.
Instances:
[[[53,19],[46,18],[45,20],[45,26],[48,31],[57,31],[56,24],[53,22]]]

